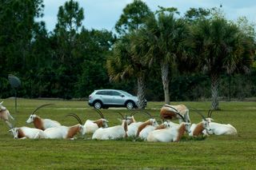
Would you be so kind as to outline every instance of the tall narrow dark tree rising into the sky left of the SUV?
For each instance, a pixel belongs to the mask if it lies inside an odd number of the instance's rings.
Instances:
[[[70,0],[58,9],[58,23],[55,26],[54,36],[56,42],[55,57],[56,71],[62,74],[62,94],[64,98],[72,96],[72,89],[78,80],[76,73],[79,65],[76,58],[78,30],[82,26],[84,18],[83,9],[78,2]]]

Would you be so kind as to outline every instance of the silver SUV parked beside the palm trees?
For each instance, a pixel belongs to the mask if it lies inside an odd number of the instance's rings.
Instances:
[[[95,109],[108,109],[109,107],[138,107],[138,97],[118,89],[98,89],[89,96],[88,104]]]

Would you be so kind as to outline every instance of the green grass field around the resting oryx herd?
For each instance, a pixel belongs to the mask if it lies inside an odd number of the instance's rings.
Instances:
[[[4,105],[15,118],[15,126],[26,125],[30,113],[39,105],[54,103],[38,110],[43,118],[59,121],[62,125],[78,122],[67,113],[77,113],[86,119],[98,119],[98,114],[85,101],[46,101],[18,99],[15,113],[14,99],[4,99]],[[207,113],[210,102],[182,102]],[[178,104],[176,102],[172,104]],[[147,110],[158,118],[163,102],[149,102]],[[238,136],[208,136],[206,139],[184,138],[179,143],[150,143],[133,140],[90,140],[91,135],[77,136],[77,140],[14,140],[7,125],[0,122],[1,169],[256,169],[256,103],[220,102],[214,121],[230,123]],[[118,113],[126,109],[104,109],[102,113],[118,125]],[[137,121],[148,117],[136,114]],[[201,117],[190,112],[192,122]],[[33,127],[33,125],[26,125]]]

